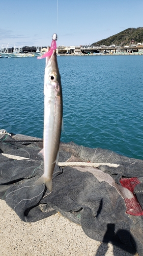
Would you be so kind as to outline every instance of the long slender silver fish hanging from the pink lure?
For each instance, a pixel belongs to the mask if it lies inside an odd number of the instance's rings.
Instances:
[[[48,52],[50,51],[50,47]],[[59,146],[63,120],[63,99],[61,76],[56,58],[56,50],[46,57],[44,75],[44,132],[43,149],[39,155],[44,159],[44,174],[36,185],[45,184],[52,190],[52,174],[55,163],[59,162]]]

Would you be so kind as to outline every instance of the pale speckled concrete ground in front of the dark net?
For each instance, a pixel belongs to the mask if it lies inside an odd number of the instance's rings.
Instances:
[[[97,242],[81,226],[56,214],[35,223],[22,222],[0,200],[0,255],[3,256],[130,256],[111,244]],[[138,255],[137,253],[134,255]]]

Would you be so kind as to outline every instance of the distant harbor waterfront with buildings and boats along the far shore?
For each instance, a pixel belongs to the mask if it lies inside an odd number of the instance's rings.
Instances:
[[[47,47],[22,47],[4,48],[1,47],[0,58],[15,57],[38,57],[47,51]],[[58,46],[56,48],[57,56],[98,56],[98,55],[143,55],[143,44],[131,46]]]

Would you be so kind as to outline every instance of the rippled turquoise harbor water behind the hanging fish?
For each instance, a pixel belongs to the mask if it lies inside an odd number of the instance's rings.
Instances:
[[[143,57],[60,56],[63,142],[143,159]],[[0,59],[0,129],[43,137],[45,59]]]

